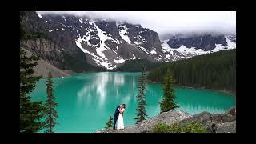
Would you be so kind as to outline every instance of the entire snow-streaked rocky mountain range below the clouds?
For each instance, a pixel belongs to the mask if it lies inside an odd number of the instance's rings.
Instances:
[[[82,51],[87,63],[109,70],[137,58],[150,62],[170,62],[232,49],[236,41],[235,35],[208,34],[189,38],[175,36],[161,42],[157,32],[140,25],[66,14],[26,12],[23,24],[28,31],[42,32],[58,43],[61,48],[55,46],[54,54],[56,51],[62,53],[62,50],[70,54]],[[22,42],[22,45],[26,46],[27,42]],[[42,48],[36,52],[46,54]],[[46,59],[49,57],[47,54]]]

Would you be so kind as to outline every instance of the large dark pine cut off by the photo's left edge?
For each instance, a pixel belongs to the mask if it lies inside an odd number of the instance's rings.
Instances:
[[[37,65],[38,56],[27,56],[20,48],[20,132],[38,132],[43,127],[40,119],[43,117],[42,101],[31,102],[29,94],[42,77],[34,77],[33,68]]]

